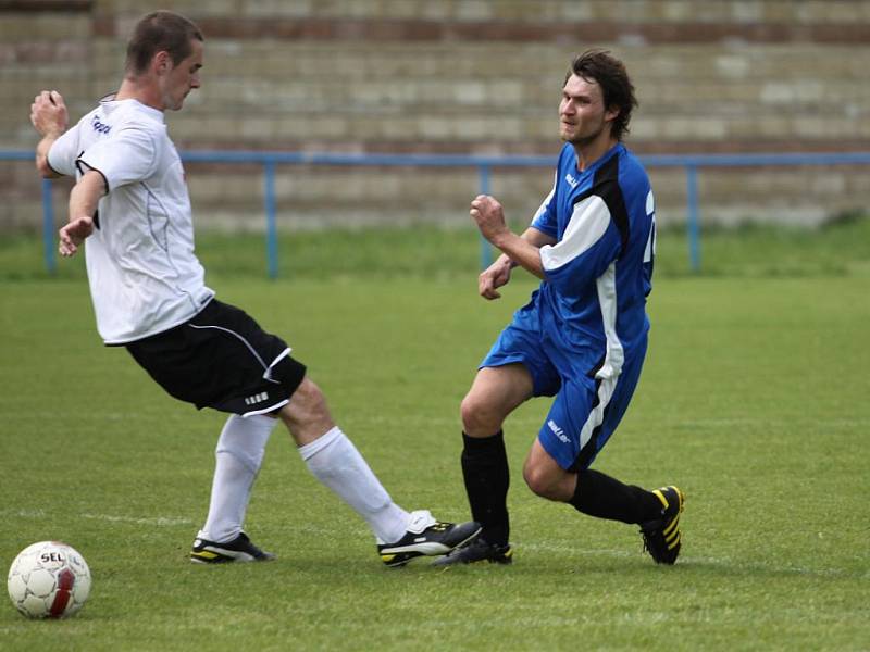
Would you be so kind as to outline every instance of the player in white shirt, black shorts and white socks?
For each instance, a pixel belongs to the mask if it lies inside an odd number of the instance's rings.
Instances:
[[[335,425],[318,386],[289,347],[245,312],[214,298],[194,253],[190,202],[165,111],[200,87],[203,37],[176,13],[141,18],[127,46],[124,79],[66,130],[57,91],[42,91],[32,122],[44,177],[75,176],[60,252],[85,243],[97,328],[123,346],[170,394],[231,413],[217,440],[208,517],[194,541],[199,563],[274,555],[243,530],[266,440],[278,418],[311,473],[371,527],[382,561],[401,566],[470,541],[476,523],[407,512],[381,486]]]

